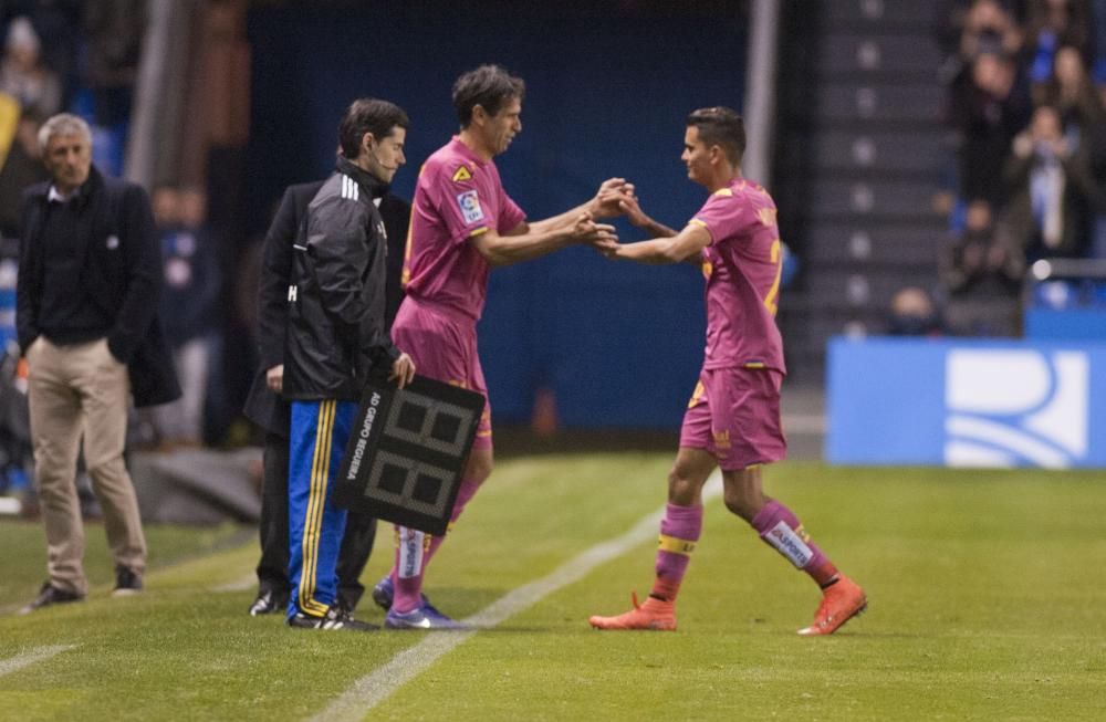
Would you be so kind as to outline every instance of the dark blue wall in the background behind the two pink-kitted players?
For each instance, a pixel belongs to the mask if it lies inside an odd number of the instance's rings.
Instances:
[[[452,82],[484,62],[526,81],[523,133],[497,165],[531,219],[611,176],[632,179],[649,212],[675,227],[701,205],[679,160],[684,119],[703,105],[741,107],[744,3],[598,2],[578,14],[531,3],[372,7],[251,13],[250,218],[262,219],[284,185],[327,172],[334,118],[358,95],[410,114],[396,180],[410,198],[421,161],[457,132]],[[690,266],[616,266],[573,249],[499,269],[480,325],[495,418],[529,421],[541,390],[568,427],[671,428],[695,385],[703,326]]]

